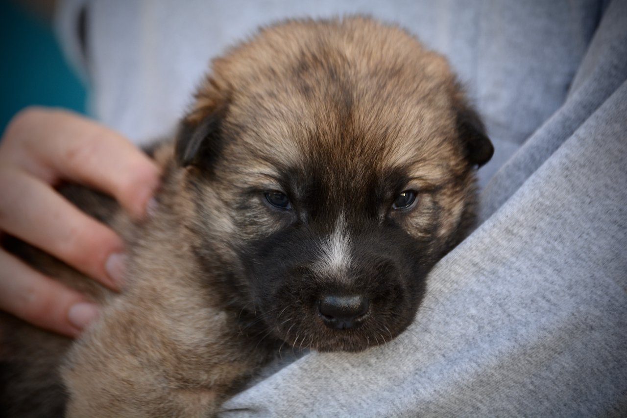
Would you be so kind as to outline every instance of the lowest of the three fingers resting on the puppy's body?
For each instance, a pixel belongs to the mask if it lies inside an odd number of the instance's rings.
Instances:
[[[98,308],[75,290],[0,250],[0,309],[41,328],[76,337]]]

